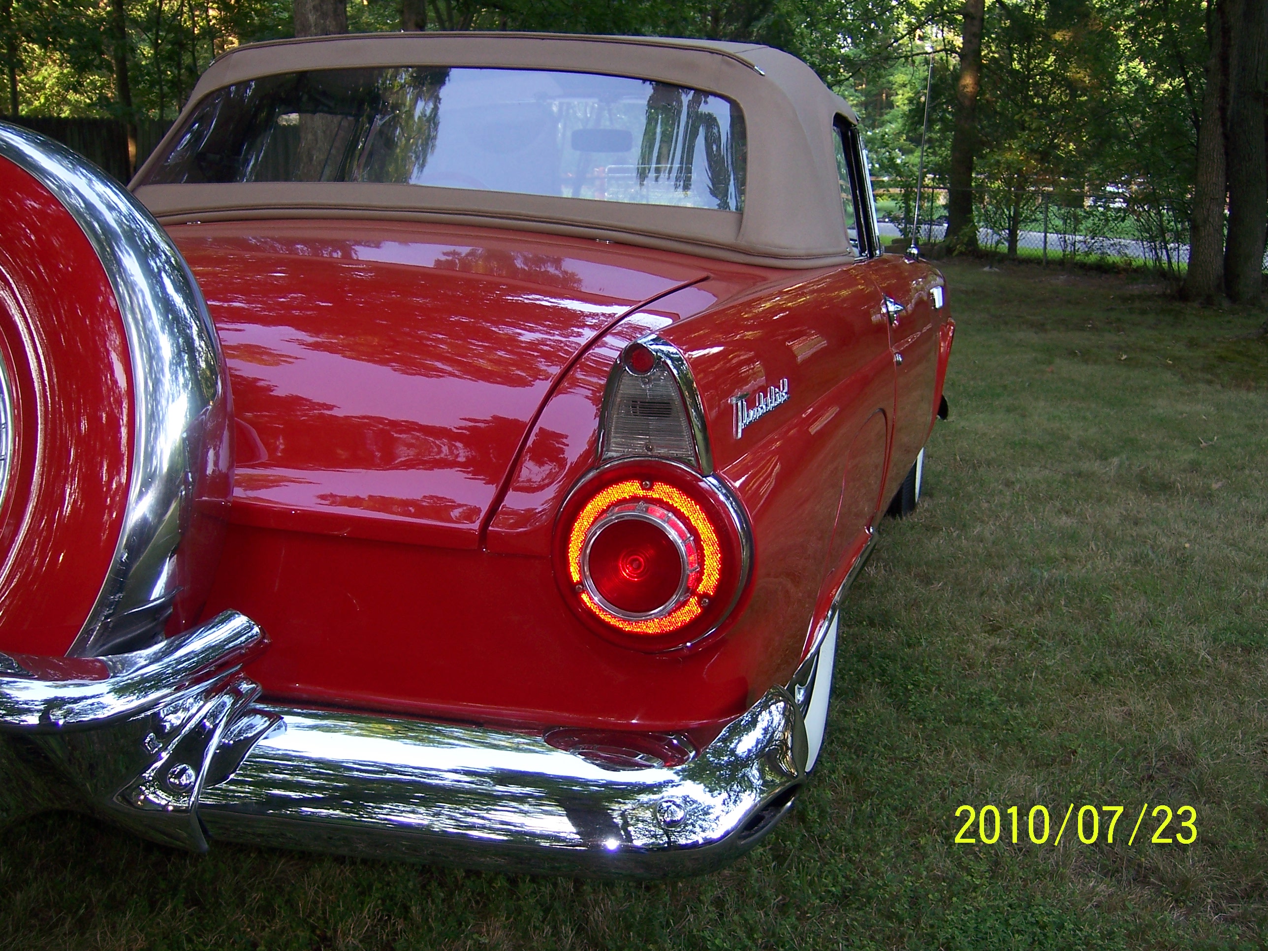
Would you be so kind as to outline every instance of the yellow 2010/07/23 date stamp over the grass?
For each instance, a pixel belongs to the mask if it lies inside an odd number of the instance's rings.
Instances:
[[[1141,827],[1146,825],[1145,813],[1148,810],[1149,803],[1140,806],[1136,823],[1127,839],[1129,846],[1135,844],[1137,834],[1142,831]],[[955,843],[959,846],[975,846],[979,842],[993,846],[1000,841],[1008,842],[1009,827],[1012,827],[1012,844],[1025,843],[1028,839],[1032,844],[1042,846],[1052,838],[1054,823],[1047,806],[1035,805],[1025,814],[1016,805],[1008,806],[1003,813],[994,805],[984,805],[980,810],[971,805],[961,805],[955,810],[957,819],[964,818],[965,813],[969,818],[964,820],[955,836]],[[1079,806],[1078,817],[1074,820],[1074,831],[1078,833],[1079,842],[1094,846],[1102,841],[1101,833],[1103,831],[1106,833],[1104,843],[1112,846],[1118,818],[1122,814],[1123,806],[1121,805]],[[1070,823],[1071,815],[1074,815],[1074,803],[1070,803],[1065,810],[1056,837],[1052,838],[1054,846],[1061,844],[1061,836],[1065,834],[1065,827]],[[1197,809],[1193,806],[1182,805],[1173,813],[1169,805],[1155,805],[1149,815],[1154,820],[1150,823],[1153,833],[1145,828],[1146,838],[1142,841],[1155,846],[1170,846],[1177,842],[1182,846],[1191,846],[1197,841]],[[1172,825],[1173,820],[1177,823],[1175,825]]]

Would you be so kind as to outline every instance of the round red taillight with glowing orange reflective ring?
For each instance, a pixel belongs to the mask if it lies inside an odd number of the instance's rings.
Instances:
[[[656,459],[591,473],[563,505],[555,552],[560,587],[582,620],[647,650],[716,630],[751,562],[747,521],[729,489]]]

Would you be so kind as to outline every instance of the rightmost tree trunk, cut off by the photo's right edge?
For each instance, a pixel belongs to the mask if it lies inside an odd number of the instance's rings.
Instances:
[[[1264,80],[1268,79],[1268,0],[1244,0],[1232,30],[1229,99],[1229,238],[1224,249],[1224,289],[1239,303],[1263,294],[1268,171],[1264,156]]]

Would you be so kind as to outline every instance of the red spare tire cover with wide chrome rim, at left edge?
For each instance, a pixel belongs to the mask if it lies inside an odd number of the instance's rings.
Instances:
[[[0,123],[0,650],[100,656],[189,626],[223,539],[228,412],[162,227]]]

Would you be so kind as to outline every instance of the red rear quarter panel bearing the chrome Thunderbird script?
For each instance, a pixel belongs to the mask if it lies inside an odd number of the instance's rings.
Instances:
[[[746,644],[753,700],[796,668],[831,579],[876,515],[894,408],[880,292],[850,265],[762,289],[664,336],[691,364],[715,465],[752,519],[752,595],[725,637]],[[739,432],[737,402],[752,410],[770,388],[786,389],[786,402]]]

